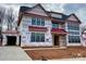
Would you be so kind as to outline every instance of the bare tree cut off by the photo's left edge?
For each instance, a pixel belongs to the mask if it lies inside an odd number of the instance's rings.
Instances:
[[[5,15],[5,8],[0,7],[0,44],[2,43],[2,22],[4,20],[4,15]]]

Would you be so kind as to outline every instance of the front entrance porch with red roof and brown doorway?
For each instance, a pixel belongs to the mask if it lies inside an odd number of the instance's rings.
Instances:
[[[52,28],[53,47],[66,47],[66,31],[64,29]]]

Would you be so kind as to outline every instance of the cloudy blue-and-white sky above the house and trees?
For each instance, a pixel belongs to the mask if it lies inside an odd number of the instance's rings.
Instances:
[[[1,7],[13,8],[15,14],[19,14],[21,5],[34,7],[36,3],[2,3]],[[86,3],[41,3],[47,11],[54,11],[64,14],[75,13],[82,21],[83,25],[86,25]]]

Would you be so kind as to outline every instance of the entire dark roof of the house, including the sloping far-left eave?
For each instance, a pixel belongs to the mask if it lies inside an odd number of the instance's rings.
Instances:
[[[30,11],[32,9],[34,9],[34,8],[36,8],[36,7],[40,7],[40,8],[46,12],[46,14],[48,15],[48,17],[50,17],[50,18],[54,18],[54,20],[63,21],[63,22],[64,22],[64,21],[67,20],[71,15],[74,15],[74,16],[78,20],[78,17],[77,17],[74,13],[72,13],[72,14],[70,14],[70,15],[65,15],[65,14],[63,14],[63,13],[59,13],[59,12],[46,11],[46,10],[42,8],[42,5],[41,5],[40,3],[36,4],[36,5],[33,7],[33,8],[21,7],[21,8],[20,8],[20,15],[23,15],[23,14],[21,14],[21,12],[22,12],[22,13],[23,13],[23,12],[26,13],[26,11]],[[62,18],[53,17],[53,16],[51,16],[50,13],[61,14],[61,15],[62,15]],[[20,15],[19,15],[19,22],[17,22],[17,25],[20,25],[21,20],[22,20],[22,16],[20,16]],[[28,14],[28,15],[29,15],[29,14]],[[78,20],[78,22],[81,23],[79,20]]]

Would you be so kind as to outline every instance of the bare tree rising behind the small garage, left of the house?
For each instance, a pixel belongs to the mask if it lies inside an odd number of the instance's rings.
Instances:
[[[10,8],[7,12],[7,21],[8,21],[8,30],[12,29],[12,23],[14,22],[14,13],[13,9]]]

